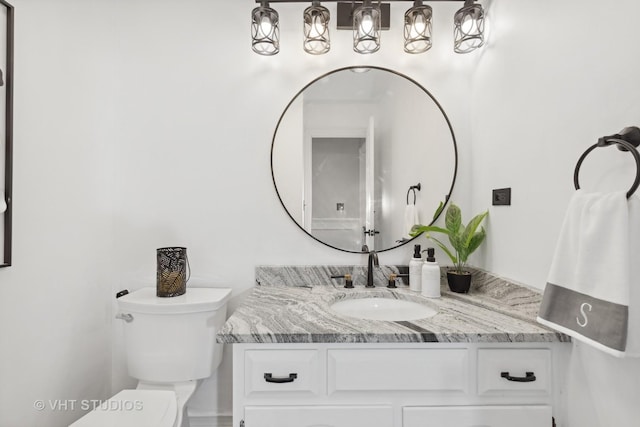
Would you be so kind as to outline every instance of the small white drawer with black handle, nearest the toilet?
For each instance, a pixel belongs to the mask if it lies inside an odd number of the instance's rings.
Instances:
[[[245,396],[320,390],[317,350],[250,350],[244,353]]]

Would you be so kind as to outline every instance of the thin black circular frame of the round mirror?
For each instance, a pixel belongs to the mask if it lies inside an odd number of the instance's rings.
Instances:
[[[287,215],[289,216],[289,218],[291,218],[291,221],[293,221],[294,224],[296,224],[298,226],[298,228],[300,230],[302,230],[307,236],[310,236],[312,239],[316,240],[317,242],[322,243],[325,246],[328,246],[330,248],[342,251],[342,252],[348,252],[348,253],[354,253],[354,254],[362,254],[362,253],[366,253],[366,251],[350,251],[347,249],[342,249],[342,248],[338,248],[336,246],[330,245],[316,237],[314,237],[311,233],[309,233],[307,230],[305,230],[300,224],[298,224],[298,222],[293,218],[293,216],[291,215],[291,213],[289,213],[289,210],[287,209],[287,207],[284,204],[284,201],[282,200],[282,197],[280,197],[280,192],[278,191],[278,186],[276,185],[276,176],[275,176],[275,172],[273,170],[273,149],[275,146],[275,142],[276,142],[276,135],[278,134],[278,128],[280,127],[280,123],[282,122],[282,119],[284,118],[285,114],[287,114],[287,111],[289,110],[289,107],[291,106],[291,104],[293,104],[295,102],[295,100],[298,98],[298,96],[300,96],[300,94],[302,92],[304,92],[304,90],[306,88],[308,88],[309,86],[311,86],[312,84],[314,84],[315,82],[317,82],[318,80],[322,80],[323,78],[340,72],[340,71],[345,71],[345,70],[352,70],[352,69],[362,69],[362,68],[370,68],[370,69],[374,69],[374,70],[380,70],[380,71],[386,71],[392,74],[395,74],[397,76],[403,77],[407,80],[409,80],[410,82],[412,82],[413,84],[415,84],[416,86],[418,86],[422,91],[425,92],[425,94],[427,96],[429,96],[429,98],[431,98],[433,100],[433,102],[438,106],[438,109],[440,110],[440,112],[442,113],[442,115],[444,116],[445,121],[447,122],[447,126],[449,127],[449,131],[451,132],[451,138],[452,138],[452,142],[453,142],[453,152],[454,152],[454,170],[453,170],[453,179],[451,180],[451,187],[449,188],[449,193],[446,196],[446,200],[444,200],[443,206],[440,209],[440,211],[438,212],[438,214],[433,218],[433,220],[431,221],[430,225],[433,224],[434,222],[436,222],[436,220],[440,217],[440,215],[442,214],[442,212],[445,211],[445,208],[447,206],[447,204],[449,203],[449,199],[451,198],[451,194],[453,193],[453,187],[455,186],[456,183],[456,177],[458,175],[458,144],[456,142],[456,136],[455,133],[453,132],[453,127],[451,126],[451,122],[449,121],[449,117],[447,116],[447,113],[445,113],[444,109],[442,108],[442,105],[440,105],[440,103],[438,102],[438,100],[431,94],[431,92],[429,92],[427,89],[425,89],[420,83],[418,83],[417,81],[415,81],[414,79],[399,73],[397,71],[394,70],[390,70],[388,68],[384,68],[384,67],[378,67],[378,66],[373,66],[373,65],[359,65],[359,66],[348,66],[348,67],[342,67],[342,68],[337,68],[335,70],[331,70],[327,73],[324,73],[323,75],[313,79],[311,82],[307,83],[302,89],[300,89],[298,91],[298,93],[296,93],[296,95],[291,99],[291,101],[289,101],[289,103],[287,104],[287,106],[285,107],[284,111],[282,112],[282,114],[280,115],[280,118],[278,119],[278,123],[276,124],[276,128],[273,131],[273,137],[271,139],[271,179],[273,180],[273,188],[276,190],[276,195],[278,196],[278,200],[280,200],[280,204],[282,205],[282,208],[284,209],[284,211],[287,213]],[[398,243],[395,246],[389,247],[389,248],[385,248],[385,249],[380,249],[380,250],[375,250],[375,252],[386,252],[386,251],[390,251],[392,249],[396,249],[402,245],[406,245],[407,243],[415,240],[418,236],[413,237],[411,239],[407,239],[401,243]]]

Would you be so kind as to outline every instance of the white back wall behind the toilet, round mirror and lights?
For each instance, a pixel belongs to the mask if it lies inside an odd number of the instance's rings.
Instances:
[[[280,114],[305,84],[327,71],[369,64],[409,75],[442,103],[458,142],[469,146],[468,105],[460,100],[469,93],[476,58],[452,52],[450,21],[457,4],[434,6],[438,41],[425,55],[402,52],[396,24],[374,55],[354,53],[351,33],[334,31],[332,51],[320,57],[302,51],[301,4],[278,5],[281,52],[274,57],[251,51],[253,2],[116,4],[120,272],[112,277],[113,290],[145,280],[153,284],[154,251],[166,245],[188,247],[193,274],[232,287],[235,296],[253,286],[256,265],[365,262],[302,233],[280,206],[271,181],[271,138]],[[335,4],[327,6],[335,10]],[[393,22],[402,22],[406,5],[393,6]],[[456,194],[464,204],[464,171],[459,179]],[[410,249],[385,252],[380,260],[406,263]],[[114,390],[131,384],[119,343]],[[195,396],[194,412],[231,412],[228,351],[218,377]]]

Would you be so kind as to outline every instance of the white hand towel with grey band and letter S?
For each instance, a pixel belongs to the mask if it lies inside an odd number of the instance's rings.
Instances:
[[[629,233],[636,228],[629,207],[624,192],[576,191],[538,314],[543,325],[617,357],[625,355],[628,336]]]

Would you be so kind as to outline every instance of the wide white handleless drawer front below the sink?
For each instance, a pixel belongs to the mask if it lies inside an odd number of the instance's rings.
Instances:
[[[468,391],[466,349],[329,350],[329,393],[337,391]]]

